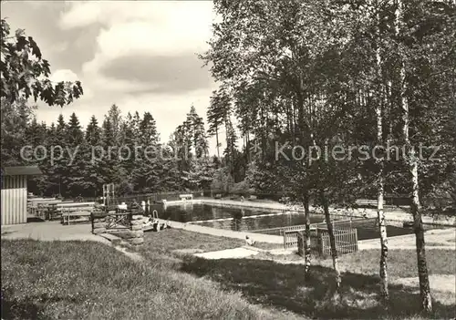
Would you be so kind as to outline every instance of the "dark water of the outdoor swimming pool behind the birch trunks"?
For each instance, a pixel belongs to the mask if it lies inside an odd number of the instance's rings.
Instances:
[[[170,219],[175,222],[192,222],[207,227],[233,231],[247,232],[305,224],[304,214],[302,212],[288,212],[284,214],[284,212],[272,210],[217,207],[191,202],[179,206],[157,205],[154,209],[159,212],[161,219]],[[257,215],[262,216],[254,217]],[[334,220],[347,219],[342,216],[333,216],[332,218]],[[323,222],[324,219],[323,214],[310,214],[311,223]],[[353,222],[352,226],[357,228],[358,240],[378,238],[378,225],[372,222],[372,220]],[[389,237],[411,233],[413,233],[411,228],[402,228],[393,225],[387,226]]]

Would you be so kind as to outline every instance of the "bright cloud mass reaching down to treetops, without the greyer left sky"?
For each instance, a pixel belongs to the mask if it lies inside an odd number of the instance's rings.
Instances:
[[[208,48],[211,25],[211,1],[67,2],[60,30],[91,30],[94,39],[78,69],[84,96],[71,105],[81,124],[92,114],[102,122],[115,103],[124,116],[149,111],[166,141],[192,104],[205,117],[216,85],[196,53]],[[39,118],[55,121],[59,112],[47,108]]]

